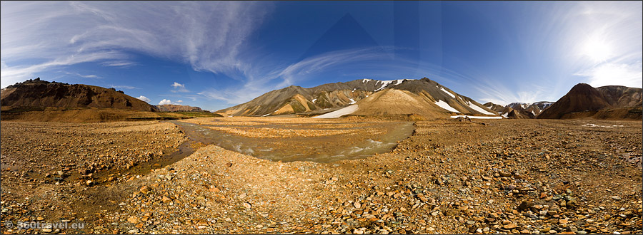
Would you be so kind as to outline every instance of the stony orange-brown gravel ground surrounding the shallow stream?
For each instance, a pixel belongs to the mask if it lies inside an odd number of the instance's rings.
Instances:
[[[242,121],[261,122],[261,118]],[[56,173],[64,167],[57,163],[51,165],[53,169],[29,164],[43,161],[31,154],[40,146],[49,147],[50,158],[74,156],[72,162],[94,162],[75,156],[75,152],[91,151],[93,145],[69,148],[57,144],[57,140],[52,140],[56,138],[48,135],[31,137],[26,132],[58,132],[74,140],[71,142],[95,141],[94,145],[115,150],[125,144],[99,141],[113,138],[111,141],[117,142],[120,137],[134,136],[131,142],[150,143],[141,147],[151,152],[178,146],[184,141],[181,132],[171,123],[146,123],[149,125],[137,125],[140,129],[125,135],[119,128],[129,131],[134,125],[61,127],[50,123],[2,122],[2,231],[19,234],[642,232],[643,146],[639,121],[423,121],[416,122],[414,135],[400,142],[392,152],[331,163],[271,162],[208,145],[178,162],[136,174],[119,174],[125,169],[122,162],[115,161],[110,168],[115,172],[111,174],[121,175],[123,179],[89,185],[83,184],[85,179],[40,178],[40,174]],[[80,129],[89,130],[89,134],[75,131]],[[160,137],[169,138],[155,139],[156,135],[151,135],[161,130],[164,135]],[[136,138],[140,139],[134,141]],[[46,145],[47,142],[56,144]],[[125,146],[135,149],[138,145]],[[14,161],[16,163],[11,164]],[[13,167],[18,165],[21,169],[16,171]],[[84,221],[86,227],[80,230],[10,229],[6,221],[14,224],[18,221]]]

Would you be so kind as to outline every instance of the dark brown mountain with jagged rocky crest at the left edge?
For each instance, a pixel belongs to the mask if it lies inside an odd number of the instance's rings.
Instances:
[[[0,104],[9,108],[114,108],[137,111],[157,111],[142,100],[122,91],[94,85],[26,80],[1,90]]]

